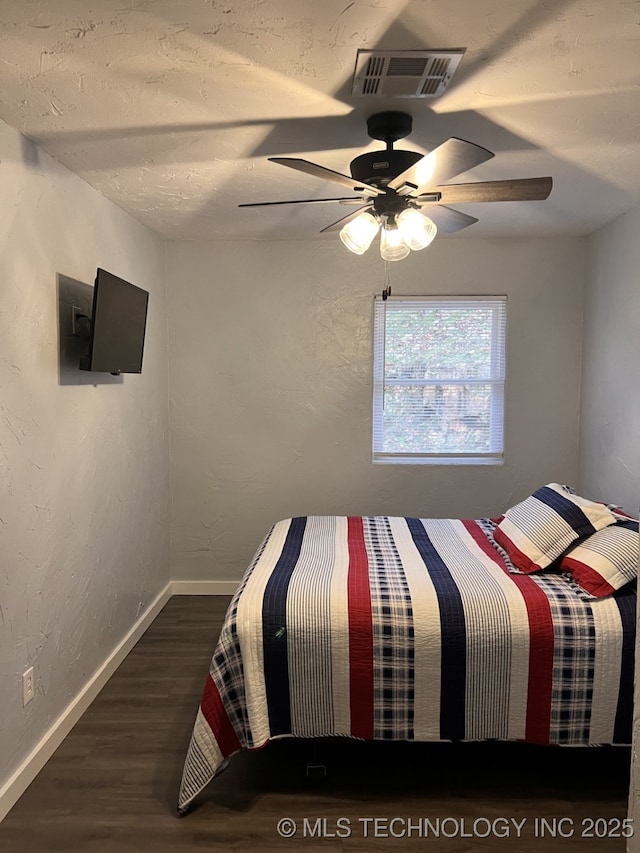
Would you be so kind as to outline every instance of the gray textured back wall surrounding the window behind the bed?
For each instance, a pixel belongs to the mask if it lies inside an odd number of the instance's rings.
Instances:
[[[172,575],[239,578],[280,518],[477,518],[578,474],[584,243],[447,240],[394,294],[508,294],[506,463],[371,463],[384,266],[326,242],[169,243]]]

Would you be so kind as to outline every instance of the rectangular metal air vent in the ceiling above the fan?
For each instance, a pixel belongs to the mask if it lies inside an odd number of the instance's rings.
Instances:
[[[438,98],[465,50],[359,50],[351,91],[358,97]]]

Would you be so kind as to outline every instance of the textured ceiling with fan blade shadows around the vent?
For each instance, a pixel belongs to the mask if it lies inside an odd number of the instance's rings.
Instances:
[[[437,100],[351,95],[358,48],[455,47]],[[553,177],[455,205],[460,236],[587,234],[640,202],[639,78],[632,0],[0,0],[0,117],[173,239],[316,235],[345,208],[237,205],[336,195],[266,158],[348,172],[386,109],[413,116],[400,147],[495,152],[455,182]]]

